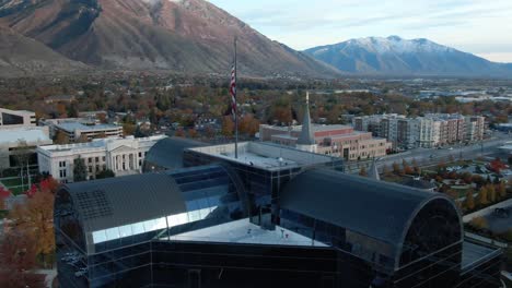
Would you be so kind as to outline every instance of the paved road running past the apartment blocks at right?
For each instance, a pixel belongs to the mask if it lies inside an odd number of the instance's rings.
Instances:
[[[415,159],[420,166],[433,165],[440,160],[447,160],[450,156],[455,159],[475,159],[480,156],[497,153],[497,148],[502,146],[505,142],[512,141],[512,135],[504,133],[494,133],[493,137],[482,143],[475,143],[467,146],[454,145],[451,147],[437,148],[416,148],[399,154],[384,156],[377,161],[377,168],[382,171],[384,166],[389,169],[394,163],[402,164],[405,159],[409,164]],[[359,172],[360,167],[370,166],[371,160],[348,163],[346,165],[347,172]]]

